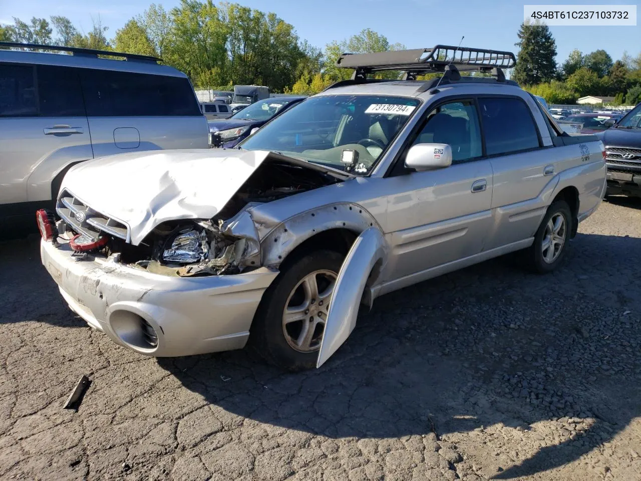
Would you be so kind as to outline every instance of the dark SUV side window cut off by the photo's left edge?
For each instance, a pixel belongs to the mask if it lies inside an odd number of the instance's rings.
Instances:
[[[3,64],[0,69],[0,117],[29,117],[37,113],[33,67]]]

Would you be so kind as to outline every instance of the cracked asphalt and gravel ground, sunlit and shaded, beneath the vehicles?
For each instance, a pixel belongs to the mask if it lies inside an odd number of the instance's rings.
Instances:
[[[2,479],[641,479],[641,201],[604,203],[556,273],[506,257],[379,298],[295,375],[115,346],[37,249],[0,244]]]

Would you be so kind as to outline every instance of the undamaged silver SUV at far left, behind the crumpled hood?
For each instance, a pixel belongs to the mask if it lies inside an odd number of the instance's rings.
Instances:
[[[33,218],[78,162],[208,147],[207,122],[190,81],[156,58],[11,42],[2,47],[72,55],[0,49],[0,225]]]

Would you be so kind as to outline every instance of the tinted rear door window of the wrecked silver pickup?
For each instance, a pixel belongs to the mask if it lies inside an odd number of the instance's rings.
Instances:
[[[479,98],[479,108],[487,155],[540,146],[537,126],[524,101],[509,97]]]

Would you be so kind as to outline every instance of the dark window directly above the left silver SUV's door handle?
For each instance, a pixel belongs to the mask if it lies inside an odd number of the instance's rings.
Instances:
[[[38,65],[38,102],[42,117],[84,117],[78,71]]]

